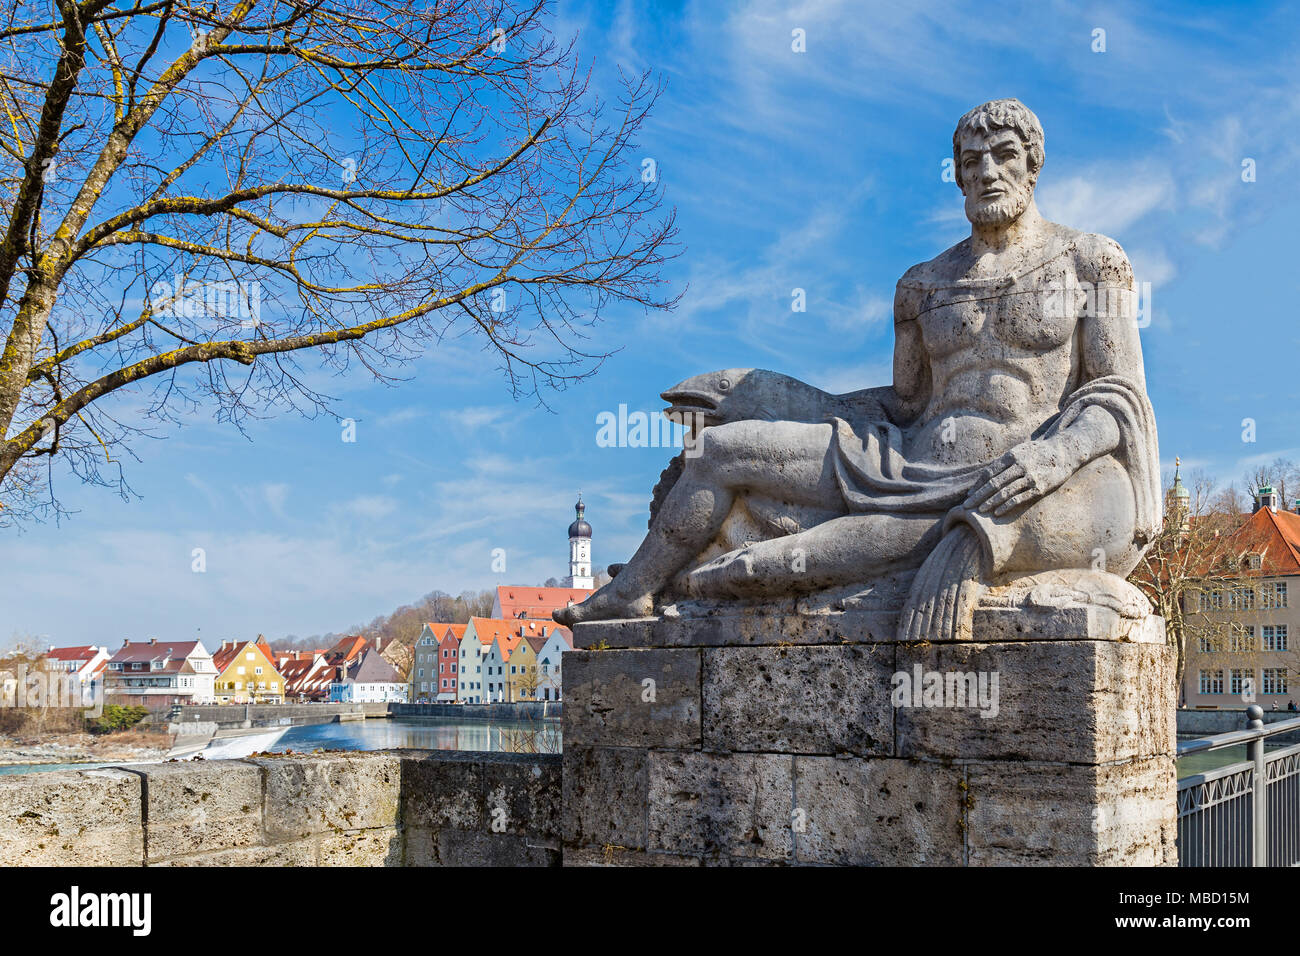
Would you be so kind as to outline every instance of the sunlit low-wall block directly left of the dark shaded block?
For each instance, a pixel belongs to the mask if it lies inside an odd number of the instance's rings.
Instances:
[[[398,825],[402,763],[394,753],[255,757],[248,762],[266,774],[268,842]]]

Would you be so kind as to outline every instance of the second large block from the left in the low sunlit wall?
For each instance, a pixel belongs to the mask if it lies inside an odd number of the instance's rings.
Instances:
[[[146,780],[151,862],[263,843],[261,767],[222,760],[133,769]]]

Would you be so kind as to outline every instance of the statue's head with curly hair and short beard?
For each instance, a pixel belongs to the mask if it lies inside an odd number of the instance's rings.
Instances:
[[[957,121],[953,164],[974,225],[1006,225],[1028,208],[1045,153],[1039,117],[1017,99],[989,100]]]

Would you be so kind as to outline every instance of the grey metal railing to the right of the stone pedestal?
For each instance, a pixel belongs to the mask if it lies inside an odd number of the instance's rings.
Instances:
[[[1300,717],[1265,726],[1245,710],[1245,730],[1178,743],[1178,756],[1245,744],[1247,758],[1178,782],[1179,866],[1300,865],[1300,744],[1268,750],[1278,734],[1300,731]]]

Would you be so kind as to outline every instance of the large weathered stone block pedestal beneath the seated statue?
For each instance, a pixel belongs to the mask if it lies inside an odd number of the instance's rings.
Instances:
[[[896,617],[578,624],[564,864],[1175,862],[1161,619],[982,607],[900,644]]]

